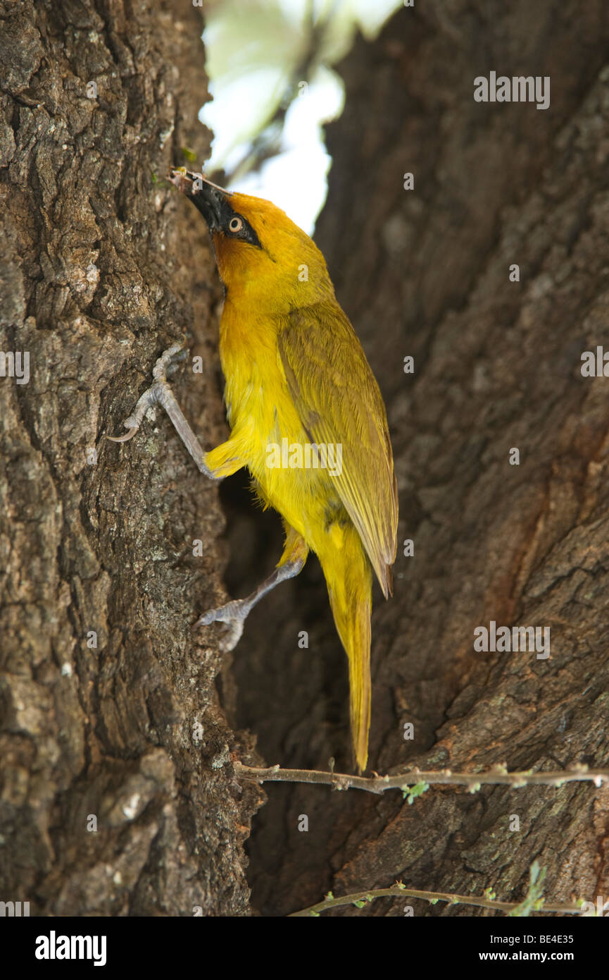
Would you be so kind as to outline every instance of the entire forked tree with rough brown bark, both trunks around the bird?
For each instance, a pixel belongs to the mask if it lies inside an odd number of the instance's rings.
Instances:
[[[0,898],[39,914],[244,914],[263,795],[233,778],[231,751],[258,757],[225,711],[237,690],[268,762],[350,764],[325,588],[310,561],[253,613],[231,667],[219,629],[189,625],[222,594],[215,488],[162,417],[126,448],[103,439],[184,331],[206,372],[178,373],[180,402],[208,445],[223,432],[207,235],[151,179],[183,146],[206,152],[197,11],[0,0],[0,18],[2,349],[31,365],[26,385],[0,378]],[[388,402],[399,540],[415,542],[374,613],[379,771],[607,764],[607,381],[583,378],[580,355],[609,347],[608,35],[602,0],[442,0],[400,10],[341,68],[317,240]],[[551,108],[474,103],[490,71],[549,74]],[[281,548],[245,487],[221,491],[233,595]],[[491,619],[549,626],[551,658],[474,654]],[[250,844],[264,914],[396,878],[516,899],[534,858],[554,899],[609,893],[606,790],[433,789],[408,807],[265,789]]]

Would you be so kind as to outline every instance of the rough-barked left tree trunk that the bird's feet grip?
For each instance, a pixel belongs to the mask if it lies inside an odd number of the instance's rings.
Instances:
[[[207,232],[153,176],[208,153],[201,30],[189,0],[0,2],[1,346],[30,358],[0,378],[0,898],[31,914],[249,910],[260,794],[190,627],[223,595],[217,491],[163,417],[104,438],[188,331],[180,399],[225,433]]]

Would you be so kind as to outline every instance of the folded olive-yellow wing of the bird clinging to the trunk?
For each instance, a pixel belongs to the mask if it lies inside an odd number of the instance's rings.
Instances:
[[[387,597],[396,560],[398,489],[385,406],[359,340],[338,304],[320,303],[286,318],[278,349],[310,441],[343,447],[337,492]]]

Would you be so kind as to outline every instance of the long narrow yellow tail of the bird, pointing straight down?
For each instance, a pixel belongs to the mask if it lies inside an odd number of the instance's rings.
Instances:
[[[372,570],[354,527],[341,528],[342,548],[318,555],[330,606],[349,658],[351,739],[355,762],[363,772],[370,729],[370,610]]]

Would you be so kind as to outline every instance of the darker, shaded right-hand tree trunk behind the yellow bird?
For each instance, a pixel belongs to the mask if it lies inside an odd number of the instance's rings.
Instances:
[[[580,370],[582,352],[609,348],[608,39],[601,0],[439,0],[400,10],[340,66],[347,103],[327,130],[316,240],[388,401],[399,541],[415,545],[414,558],[398,550],[395,597],[373,616],[379,772],[609,761],[609,381]],[[474,102],[474,77],[491,71],[549,75],[550,108]],[[314,568],[301,577],[236,658],[241,721],[269,763],[326,767],[333,755],[340,769],[345,665],[323,583]],[[474,628],[492,619],[550,627],[550,659],[474,653]],[[413,806],[266,790],[251,844],[266,914],[399,878],[518,900],[535,858],[552,899],[609,895],[607,788],[436,788]],[[388,899],[333,914],[405,905],[480,914]]]

